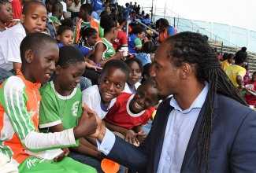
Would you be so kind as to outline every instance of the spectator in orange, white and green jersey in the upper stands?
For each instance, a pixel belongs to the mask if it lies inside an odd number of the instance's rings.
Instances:
[[[99,21],[91,17],[92,12],[93,8],[91,4],[83,4],[80,7],[80,21],[76,24],[76,29],[74,31],[74,42],[76,42],[77,44],[79,43],[80,29],[83,27],[95,28],[98,32],[98,40],[103,37],[103,31],[99,24]]]

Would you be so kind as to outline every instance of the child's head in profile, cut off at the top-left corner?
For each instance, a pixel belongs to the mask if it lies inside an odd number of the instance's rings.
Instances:
[[[9,0],[0,0],[0,33],[6,30],[6,24],[13,20],[13,7]]]

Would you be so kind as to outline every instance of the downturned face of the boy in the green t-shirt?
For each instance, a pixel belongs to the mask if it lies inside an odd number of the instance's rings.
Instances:
[[[76,88],[77,83],[80,83],[80,77],[83,75],[85,69],[85,62],[77,62],[76,66],[69,66],[68,68],[56,67],[56,78],[58,83],[55,83],[58,93],[65,93]]]

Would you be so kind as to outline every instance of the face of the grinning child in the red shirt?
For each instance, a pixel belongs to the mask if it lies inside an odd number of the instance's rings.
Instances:
[[[139,113],[156,105],[158,101],[158,90],[145,83],[138,87],[134,98],[130,102],[129,108],[133,113]]]

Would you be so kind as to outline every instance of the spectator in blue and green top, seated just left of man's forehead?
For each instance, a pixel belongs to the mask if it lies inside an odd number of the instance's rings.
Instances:
[[[129,53],[139,53],[143,43],[142,40],[145,37],[145,32],[142,27],[135,27],[132,29],[132,35],[128,36],[128,49]]]

